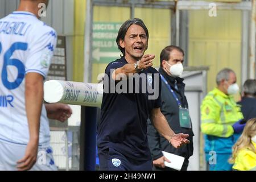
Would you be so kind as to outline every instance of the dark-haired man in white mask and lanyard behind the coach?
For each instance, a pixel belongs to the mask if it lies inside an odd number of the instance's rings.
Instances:
[[[159,73],[162,78],[162,106],[160,109],[168,121],[168,124],[172,126],[175,132],[179,131],[184,134],[189,134],[190,143],[180,149],[172,147],[168,144],[168,141],[154,129],[151,122],[148,121],[148,145],[150,147],[154,169],[156,170],[174,170],[164,166],[164,161],[168,162],[168,160],[163,156],[162,151],[185,158],[181,171],[187,170],[188,159],[193,154],[194,134],[188,113],[188,102],[184,93],[184,79],[180,78],[183,72],[183,59],[183,50],[176,46],[167,46],[160,53]],[[180,117],[180,114],[183,114],[185,117]]]

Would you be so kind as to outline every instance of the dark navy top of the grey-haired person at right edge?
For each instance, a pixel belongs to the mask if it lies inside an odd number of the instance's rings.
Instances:
[[[241,111],[246,121],[256,117],[256,98],[242,97],[242,100],[237,104],[242,105]]]

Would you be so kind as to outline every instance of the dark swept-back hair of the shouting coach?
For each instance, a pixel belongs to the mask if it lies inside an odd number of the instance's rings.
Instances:
[[[133,24],[137,24],[138,26],[141,26],[144,29],[144,31],[146,32],[147,40],[148,40],[148,30],[147,30],[146,25],[144,24],[144,22],[141,19],[134,18],[134,19],[126,20],[126,22],[123,23],[122,26],[120,27],[120,29],[118,31],[117,39],[116,39],[118,49],[122,52],[123,56],[125,56],[125,48],[122,48],[119,45],[119,41],[125,40],[125,34],[126,34],[128,28]]]

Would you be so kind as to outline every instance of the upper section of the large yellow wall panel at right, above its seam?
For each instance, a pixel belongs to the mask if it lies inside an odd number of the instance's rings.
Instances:
[[[210,17],[207,10],[189,12],[191,38],[241,39],[241,11],[217,10],[217,17]]]

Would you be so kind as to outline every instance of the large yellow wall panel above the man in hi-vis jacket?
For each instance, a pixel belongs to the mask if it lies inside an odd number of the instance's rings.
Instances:
[[[231,68],[241,84],[241,11],[189,11],[189,66],[209,66],[208,91],[216,86],[216,75]]]

